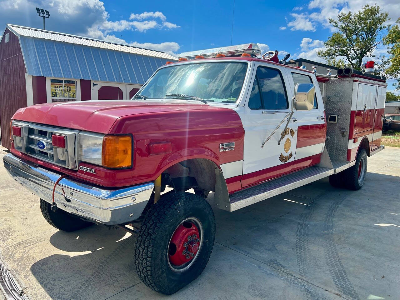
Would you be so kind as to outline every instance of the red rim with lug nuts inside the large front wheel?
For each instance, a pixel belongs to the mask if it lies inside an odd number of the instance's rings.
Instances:
[[[196,218],[184,220],[168,244],[168,264],[175,272],[187,270],[197,258],[202,244],[202,225]]]

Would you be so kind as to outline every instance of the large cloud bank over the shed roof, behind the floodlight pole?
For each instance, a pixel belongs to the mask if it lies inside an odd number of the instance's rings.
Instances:
[[[46,29],[69,34],[77,34],[89,38],[97,38],[133,46],[150,48],[174,54],[179,49],[176,42],[139,43],[126,42],[116,32],[134,30],[145,33],[146,30],[174,29],[180,26],[166,21],[162,12],[143,12],[131,14],[129,20],[110,20],[104,3],[100,0],[0,0],[0,20],[10,24],[42,28],[42,18],[35,12],[35,7],[45,7],[50,11],[50,19],[46,19]],[[29,16],[29,17],[27,17]],[[3,28],[2,28],[3,29]],[[0,32],[1,34],[1,32]]]

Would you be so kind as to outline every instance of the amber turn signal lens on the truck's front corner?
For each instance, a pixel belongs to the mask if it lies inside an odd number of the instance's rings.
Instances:
[[[127,168],[132,166],[132,137],[104,136],[102,165],[107,168]]]

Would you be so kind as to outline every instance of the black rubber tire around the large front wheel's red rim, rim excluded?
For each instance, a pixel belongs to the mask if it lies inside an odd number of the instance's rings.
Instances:
[[[190,268],[177,273],[168,264],[168,245],[178,225],[190,217],[197,218],[202,224],[203,244]],[[173,294],[203,272],[214,239],[214,212],[204,198],[188,192],[167,194],[150,208],[140,226],[134,250],[136,271],[149,288],[162,294]]]

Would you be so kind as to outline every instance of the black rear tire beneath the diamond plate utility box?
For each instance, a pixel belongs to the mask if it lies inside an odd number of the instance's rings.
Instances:
[[[357,153],[356,164],[347,170],[344,170],[344,181],[346,183],[346,187],[350,190],[359,190],[364,185],[365,177],[367,175],[367,166],[368,166],[368,156],[365,149],[360,149]],[[361,166],[361,176],[358,176],[358,170],[360,168],[360,164],[364,164],[364,167]]]

